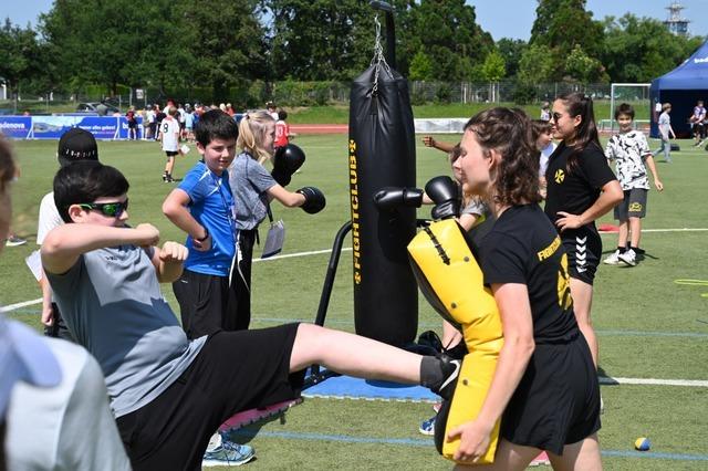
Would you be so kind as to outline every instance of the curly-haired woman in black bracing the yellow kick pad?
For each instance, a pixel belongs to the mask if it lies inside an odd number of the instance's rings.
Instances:
[[[570,295],[568,255],[539,208],[539,151],[528,117],[492,108],[465,127],[455,163],[497,221],[475,248],[499,306],[504,345],[483,406],[448,432],[473,462],[499,417],[493,469],[523,470],[541,450],[555,468],[601,469],[600,388]]]

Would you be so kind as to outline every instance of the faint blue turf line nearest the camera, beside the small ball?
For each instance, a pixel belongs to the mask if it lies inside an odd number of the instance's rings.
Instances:
[[[406,447],[433,447],[433,439],[412,438],[375,438],[375,437],[353,437],[346,435],[310,433],[310,432],[283,432],[263,430],[233,430],[229,435],[235,437],[263,437],[281,438],[285,440],[310,440],[310,441],[337,441],[342,443],[372,443],[372,444],[402,444]],[[708,454],[686,454],[686,453],[659,453],[654,451],[631,451],[631,450],[602,450],[603,457],[614,458],[643,458],[673,461],[708,461]]]

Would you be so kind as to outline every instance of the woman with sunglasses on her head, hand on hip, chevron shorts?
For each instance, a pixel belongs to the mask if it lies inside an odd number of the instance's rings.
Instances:
[[[590,320],[593,280],[602,257],[595,220],[624,197],[597,138],[592,100],[581,93],[553,102],[556,139],[562,139],[545,171],[545,213],[568,252],[575,317],[597,366],[597,338]]]

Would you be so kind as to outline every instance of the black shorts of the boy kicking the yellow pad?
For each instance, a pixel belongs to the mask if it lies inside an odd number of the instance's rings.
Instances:
[[[209,438],[229,417],[300,396],[304,370],[290,373],[298,324],[209,336],[165,393],[118,417],[134,470],[199,470]]]

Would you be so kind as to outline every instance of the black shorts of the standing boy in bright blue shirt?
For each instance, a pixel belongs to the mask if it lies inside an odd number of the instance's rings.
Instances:
[[[228,276],[185,270],[173,283],[179,303],[181,327],[187,338],[199,338],[217,331],[236,331],[236,287]]]

